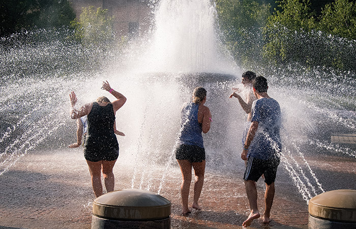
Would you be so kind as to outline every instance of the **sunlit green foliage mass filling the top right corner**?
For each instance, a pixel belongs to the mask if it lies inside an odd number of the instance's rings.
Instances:
[[[263,31],[266,60],[277,65],[299,63],[306,67],[355,69],[352,56],[356,54],[356,43],[338,37],[355,35],[350,26],[355,24],[354,16],[347,16],[351,15],[354,4],[346,2],[336,0],[327,5],[318,22],[309,8],[309,1],[281,1],[281,11],[276,11],[268,19]],[[318,28],[323,28],[321,31],[326,33],[318,32]]]

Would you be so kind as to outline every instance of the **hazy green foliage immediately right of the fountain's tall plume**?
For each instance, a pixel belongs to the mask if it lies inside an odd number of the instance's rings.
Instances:
[[[217,0],[216,9],[225,45],[240,65],[253,66],[262,58],[261,28],[270,5],[253,0]]]

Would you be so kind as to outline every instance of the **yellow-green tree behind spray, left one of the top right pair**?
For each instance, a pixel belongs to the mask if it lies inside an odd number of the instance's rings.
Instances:
[[[276,64],[285,62],[308,62],[301,33],[310,32],[315,27],[314,13],[310,2],[282,0],[280,9],[269,17],[263,34],[264,56]]]

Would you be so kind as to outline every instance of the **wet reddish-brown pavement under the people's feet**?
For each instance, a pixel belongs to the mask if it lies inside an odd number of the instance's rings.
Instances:
[[[183,217],[180,215],[181,174],[176,165],[171,165],[165,174],[164,168],[162,171],[159,166],[146,169],[147,166],[135,167],[120,159],[114,167],[115,190],[132,187],[154,192],[160,190],[160,194],[172,203],[173,229],[242,228],[249,214],[241,178],[243,168],[237,168],[231,174],[207,169],[200,197],[203,210]],[[356,158],[323,155],[306,156],[306,160],[325,191],[356,189]],[[138,171],[146,173],[149,181],[138,176]],[[133,174],[137,175],[135,179]],[[263,212],[262,180],[257,182],[257,189],[258,206]],[[1,229],[91,228],[95,197],[80,149],[28,153],[0,176],[0,192]],[[279,168],[271,214],[273,221],[269,225],[257,219],[249,228],[308,228],[307,202],[282,167]]]

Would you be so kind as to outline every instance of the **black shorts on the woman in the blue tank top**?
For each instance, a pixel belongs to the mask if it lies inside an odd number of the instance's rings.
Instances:
[[[175,159],[188,160],[190,163],[205,160],[205,149],[198,146],[178,145],[175,149]]]

